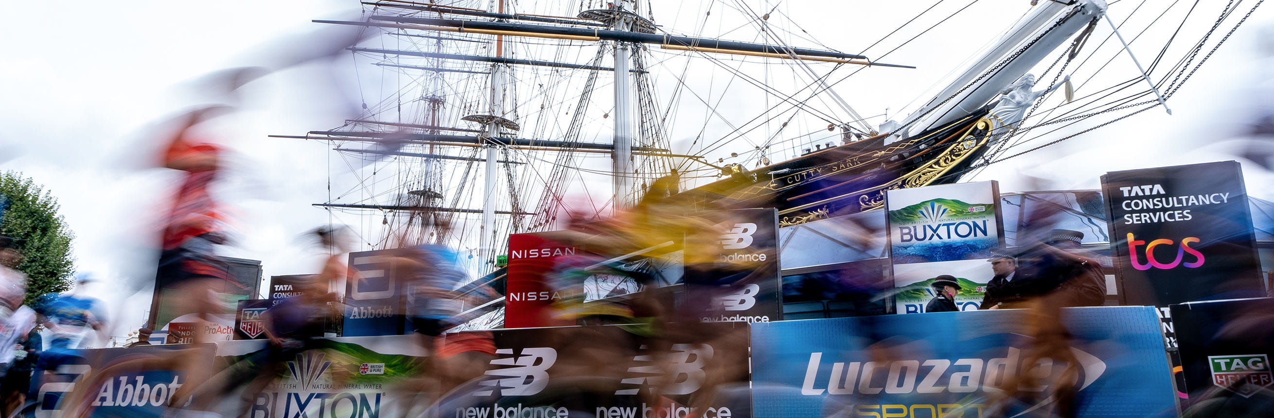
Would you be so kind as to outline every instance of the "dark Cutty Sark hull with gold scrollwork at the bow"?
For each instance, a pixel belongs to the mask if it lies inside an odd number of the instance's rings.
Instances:
[[[794,226],[884,205],[892,189],[952,184],[991,143],[986,110],[924,134],[885,144],[885,135],[832,147],[687,190],[697,208],[777,208]]]

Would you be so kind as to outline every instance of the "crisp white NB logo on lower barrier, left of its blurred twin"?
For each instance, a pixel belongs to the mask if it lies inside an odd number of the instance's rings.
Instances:
[[[496,354],[513,354],[510,348],[501,348]],[[482,386],[498,387],[502,396],[535,395],[549,384],[549,367],[557,362],[557,350],[548,347],[524,348],[517,357],[497,358],[492,366],[513,366],[488,370],[487,375],[503,376],[479,382]],[[475,396],[489,396],[490,390],[475,390]]]

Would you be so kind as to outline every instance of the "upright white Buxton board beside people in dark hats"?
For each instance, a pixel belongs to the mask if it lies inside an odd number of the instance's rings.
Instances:
[[[889,260],[898,314],[924,312],[933,278],[956,277],[956,306],[977,310],[991,282],[991,250],[1004,243],[995,181],[898,189],[885,192]]]

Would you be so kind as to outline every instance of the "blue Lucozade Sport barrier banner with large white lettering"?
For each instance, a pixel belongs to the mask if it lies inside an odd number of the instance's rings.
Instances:
[[[996,387],[1018,376],[1032,356],[1032,339],[1022,335],[1029,314],[986,310],[753,324],[753,414],[987,417]],[[1066,308],[1063,322],[1073,335],[1070,359],[1036,362],[1033,376],[1041,385],[1022,386],[1036,400],[1015,405],[1015,412],[1054,410],[1051,385],[1073,372],[1078,417],[1176,417],[1172,375],[1152,307]],[[882,356],[871,347],[879,335],[906,343]]]

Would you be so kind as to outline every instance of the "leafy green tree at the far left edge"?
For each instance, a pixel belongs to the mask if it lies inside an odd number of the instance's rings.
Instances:
[[[70,288],[75,273],[71,233],[57,214],[57,199],[28,177],[14,171],[0,173],[0,234],[18,240],[23,260],[17,269],[27,274],[27,303],[48,292]]]

